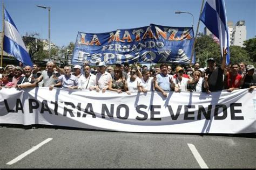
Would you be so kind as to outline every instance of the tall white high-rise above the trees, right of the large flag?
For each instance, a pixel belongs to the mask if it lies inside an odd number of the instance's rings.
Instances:
[[[231,39],[232,46],[244,47],[244,41],[246,40],[246,26],[244,20],[239,20],[235,24]]]

